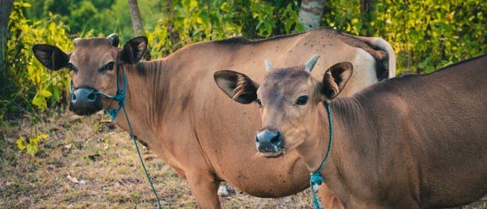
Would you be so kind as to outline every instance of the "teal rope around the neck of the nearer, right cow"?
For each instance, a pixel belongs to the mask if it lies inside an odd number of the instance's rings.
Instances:
[[[330,125],[330,138],[328,140],[328,149],[326,150],[325,159],[323,159],[319,168],[310,174],[311,177],[309,179],[309,188],[311,188],[311,194],[313,194],[313,204],[314,204],[314,208],[316,209],[321,209],[319,200],[316,197],[316,191],[318,191],[319,185],[321,185],[321,183],[323,183],[324,181],[323,176],[321,176],[320,174],[320,171],[321,169],[323,169],[323,166],[325,165],[328,157],[330,157],[331,145],[333,145],[333,118],[332,118],[332,113],[330,108],[331,101],[326,101],[325,106],[326,106],[326,112],[328,113],[328,124]]]

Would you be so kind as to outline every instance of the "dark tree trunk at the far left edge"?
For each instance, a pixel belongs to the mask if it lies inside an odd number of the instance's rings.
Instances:
[[[14,0],[0,0],[0,77],[6,70],[6,42],[9,40],[9,16],[12,11]],[[3,83],[3,79],[0,79]],[[0,84],[4,86],[4,84]]]

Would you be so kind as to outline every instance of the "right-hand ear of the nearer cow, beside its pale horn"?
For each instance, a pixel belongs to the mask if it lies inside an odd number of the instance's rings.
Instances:
[[[338,96],[352,76],[352,72],[353,65],[350,62],[340,62],[327,69],[321,81],[321,94],[328,99]]]

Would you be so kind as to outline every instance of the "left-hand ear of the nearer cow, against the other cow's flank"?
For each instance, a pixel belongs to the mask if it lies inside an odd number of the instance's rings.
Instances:
[[[259,84],[245,74],[231,70],[220,70],[215,72],[213,78],[225,94],[239,103],[252,103],[257,99]]]

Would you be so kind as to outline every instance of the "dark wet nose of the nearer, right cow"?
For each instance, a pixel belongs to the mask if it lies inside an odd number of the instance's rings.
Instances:
[[[259,152],[277,152],[282,146],[282,137],[278,131],[264,129],[255,135]]]

